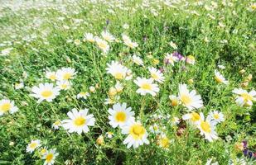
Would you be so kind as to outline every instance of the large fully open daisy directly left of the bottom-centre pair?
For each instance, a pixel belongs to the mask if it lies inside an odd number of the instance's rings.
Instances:
[[[70,119],[62,120],[61,124],[64,129],[68,130],[70,133],[87,133],[89,132],[88,126],[94,126],[94,115],[88,114],[88,109],[77,111],[74,108],[72,111],[69,111],[67,115],[70,117]]]

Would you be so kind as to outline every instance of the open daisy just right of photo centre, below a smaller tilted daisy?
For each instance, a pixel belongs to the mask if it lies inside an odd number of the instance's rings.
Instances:
[[[141,95],[146,95],[147,93],[151,94],[153,97],[157,95],[159,92],[158,85],[153,83],[154,79],[152,78],[136,78],[134,83],[138,85],[138,90],[136,92],[140,93]]]

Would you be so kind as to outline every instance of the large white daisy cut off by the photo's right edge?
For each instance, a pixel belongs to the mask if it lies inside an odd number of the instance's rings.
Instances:
[[[235,102],[239,106],[253,106],[253,101],[256,101],[256,92],[254,90],[247,92],[244,89],[235,88],[232,92],[238,95],[235,98]]]

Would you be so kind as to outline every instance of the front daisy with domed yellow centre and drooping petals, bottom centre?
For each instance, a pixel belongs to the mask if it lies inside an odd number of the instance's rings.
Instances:
[[[127,148],[131,146],[138,148],[142,144],[149,144],[147,130],[138,121],[129,120],[128,124],[122,127],[122,134],[128,134],[127,138],[123,141],[123,144],[127,144]]]

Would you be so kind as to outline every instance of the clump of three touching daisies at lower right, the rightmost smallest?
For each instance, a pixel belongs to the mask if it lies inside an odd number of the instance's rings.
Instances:
[[[182,119],[189,120],[192,125],[195,125],[200,130],[200,134],[204,135],[205,139],[210,142],[218,139],[218,134],[215,131],[216,125],[225,120],[224,115],[220,111],[210,111],[206,118],[203,113],[200,112],[198,114],[196,111],[192,111],[183,115]]]

